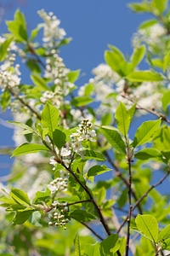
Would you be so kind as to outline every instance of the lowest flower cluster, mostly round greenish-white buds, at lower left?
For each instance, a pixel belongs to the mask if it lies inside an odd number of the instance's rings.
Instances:
[[[48,225],[64,227],[66,230],[65,224],[69,222],[69,219],[65,216],[69,211],[67,202],[54,201],[51,206],[53,209],[48,214],[48,218],[50,218]]]

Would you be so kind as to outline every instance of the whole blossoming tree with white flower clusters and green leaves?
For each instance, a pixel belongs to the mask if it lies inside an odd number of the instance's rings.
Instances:
[[[59,56],[70,39],[53,13],[38,11],[31,32],[19,10],[7,21],[0,103],[13,113],[15,148],[1,149],[14,157],[1,183],[1,255],[169,255],[159,185],[170,174],[170,12],[167,0],[129,7],[153,16],[134,33],[132,55],[109,45],[81,87]]]

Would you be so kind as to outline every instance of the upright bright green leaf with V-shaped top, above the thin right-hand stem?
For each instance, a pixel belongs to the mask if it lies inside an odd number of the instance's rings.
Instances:
[[[125,104],[123,104],[122,102],[116,108],[116,125],[118,130],[121,131],[122,135],[125,137],[127,136],[127,132],[132,121],[135,108],[136,105],[133,105],[133,107],[127,111]]]

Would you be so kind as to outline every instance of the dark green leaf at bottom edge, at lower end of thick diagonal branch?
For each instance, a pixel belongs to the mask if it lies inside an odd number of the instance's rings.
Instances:
[[[116,234],[112,234],[108,236],[104,241],[100,243],[100,256],[112,256],[112,249],[114,251],[118,251],[120,244],[117,243],[119,236]],[[116,248],[115,248],[116,247]]]

